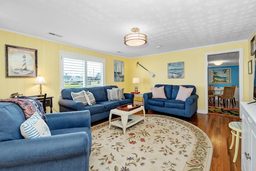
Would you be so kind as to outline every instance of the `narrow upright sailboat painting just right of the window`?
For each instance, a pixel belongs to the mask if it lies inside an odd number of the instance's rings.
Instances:
[[[124,82],[124,62],[114,60],[114,81]]]

